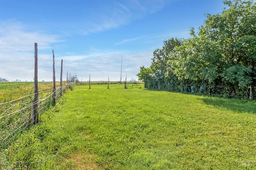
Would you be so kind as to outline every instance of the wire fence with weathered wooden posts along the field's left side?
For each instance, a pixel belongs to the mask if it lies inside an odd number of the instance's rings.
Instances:
[[[60,87],[56,88],[55,82],[55,66],[54,66],[54,51],[53,55],[53,82],[52,88],[42,88],[38,90],[38,57],[37,43],[35,43],[35,62],[34,62],[34,93],[19,97],[17,99],[0,103],[0,148],[10,144],[15,137],[31,124],[36,124],[39,121],[39,116],[49,108],[50,105],[55,106],[60,101],[62,92],[68,89],[70,83],[74,82],[67,71],[67,81],[65,86],[62,86],[62,62],[60,74]],[[14,83],[13,85],[15,85]],[[20,84],[20,83],[19,83]],[[11,85],[11,84],[10,84]],[[10,93],[12,94],[12,93]]]

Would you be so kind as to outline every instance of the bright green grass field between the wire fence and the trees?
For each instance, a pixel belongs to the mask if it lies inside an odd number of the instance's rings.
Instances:
[[[76,86],[1,149],[3,169],[255,169],[256,102]]]

